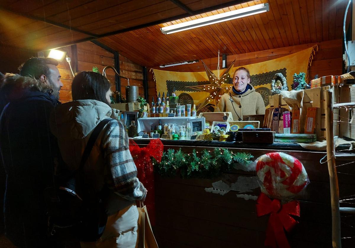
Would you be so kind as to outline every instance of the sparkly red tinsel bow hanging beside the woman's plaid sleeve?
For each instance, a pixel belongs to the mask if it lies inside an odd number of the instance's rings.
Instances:
[[[159,163],[163,156],[163,143],[160,139],[154,139],[146,147],[139,147],[130,139],[130,152],[136,164],[138,179],[148,190],[144,204],[147,206],[151,224],[155,225],[155,194],[154,194],[154,166],[152,157]]]

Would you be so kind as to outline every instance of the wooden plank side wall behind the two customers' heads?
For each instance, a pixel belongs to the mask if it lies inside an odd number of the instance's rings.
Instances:
[[[110,51],[103,49],[102,47],[88,41],[85,43],[80,43],[76,45],[77,47],[77,64],[78,71],[92,71],[92,68],[96,66],[99,72],[102,73],[105,66],[115,66],[114,54]],[[71,47],[63,47],[62,50],[68,52],[68,56],[72,56]],[[73,63],[73,70],[75,70],[75,65]],[[63,61],[58,66],[59,71],[62,76],[62,82],[64,84],[61,94],[60,101],[68,102],[71,101],[71,83],[72,75],[70,72],[69,64]],[[137,85],[139,87],[139,95],[144,97],[143,89],[143,68],[142,66],[130,61],[128,58],[120,55],[120,74],[130,79],[131,85]],[[115,85],[115,73],[112,69],[106,70],[107,78],[111,83],[111,90],[116,91]],[[127,85],[127,80],[121,78],[121,90],[122,95],[125,97],[126,89],[124,86]]]

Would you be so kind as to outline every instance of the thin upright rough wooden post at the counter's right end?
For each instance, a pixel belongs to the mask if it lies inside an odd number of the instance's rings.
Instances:
[[[332,244],[333,248],[341,248],[340,212],[339,212],[339,185],[337,169],[335,167],[334,131],[333,131],[333,88],[326,90],[326,132],[329,182],[331,188],[332,206]]]

